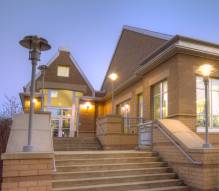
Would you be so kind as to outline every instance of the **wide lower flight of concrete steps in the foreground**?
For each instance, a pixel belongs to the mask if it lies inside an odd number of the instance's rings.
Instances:
[[[56,152],[53,191],[188,191],[151,151]]]

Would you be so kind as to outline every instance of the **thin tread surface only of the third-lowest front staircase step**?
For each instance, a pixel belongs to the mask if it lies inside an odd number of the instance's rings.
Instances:
[[[123,176],[105,176],[105,177],[90,177],[90,178],[74,178],[74,179],[59,179],[52,180],[52,182],[74,182],[74,181],[87,181],[87,180],[105,180],[116,178],[137,178],[137,177],[149,177],[149,176],[164,176],[164,175],[176,175],[175,173],[158,173],[158,174],[142,174],[142,175],[123,175]]]

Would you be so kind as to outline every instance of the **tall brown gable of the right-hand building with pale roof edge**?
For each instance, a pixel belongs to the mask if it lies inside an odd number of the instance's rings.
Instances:
[[[126,81],[139,67],[139,61],[172,38],[158,32],[124,26],[117,42],[101,90],[109,90],[108,75],[116,72],[119,79],[116,85]]]

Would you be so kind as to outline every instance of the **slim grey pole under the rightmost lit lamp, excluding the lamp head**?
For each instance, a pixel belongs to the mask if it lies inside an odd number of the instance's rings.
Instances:
[[[208,142],[208,126],[209,126],[209,77],[203,78],[205,86],[205,143],[203,148],[210,148],[211,144]]]

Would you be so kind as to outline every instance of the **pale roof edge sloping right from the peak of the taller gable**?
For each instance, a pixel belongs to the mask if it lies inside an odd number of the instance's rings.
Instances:
[[[170,40],[173,37],[172,35],[169,35],[169,34],[155,32],[155,31],[151,31],[151,30],[147,30],[147,29],[143,29],[143,28],[138,28],[138,27],[132,27],[132,26],[128,26],[128,25],[124,25],[123,30],[124,29],[129,30],[129,31],[133,31],[133,32],[137,32],[137,33],[141,33],[143,35],[148,35],[148,36],[153,36],[156,38],[164,39],[164,40]]]

